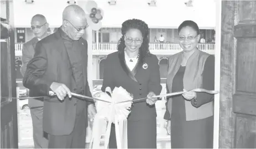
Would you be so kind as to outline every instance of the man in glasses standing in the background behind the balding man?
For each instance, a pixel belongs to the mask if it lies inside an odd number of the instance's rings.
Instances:
[[[22,48],[22,67],[20,67],[20,73],[24,77],[28,62],[34,57],[36,43],[48,36],[48,23],[44,15],[36,14],[31,20],[31,29],[35,35],[34,38],[25,42]],[[36,97],[36,92],[33,89],[29,91],[30,97]],[[33,124],[33,139],[35,148],[47,148],[48,140],[47,134],[43,132],[43,99],[35,98],[28,100],[28,106]]]

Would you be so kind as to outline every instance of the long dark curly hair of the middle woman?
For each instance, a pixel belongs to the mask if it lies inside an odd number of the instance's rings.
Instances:
[[[123,22],[122,29],[121,29],[122,37],[118,41],[117,50],[120,54],[124,54],[124,49],[126,48],[126,45],[124,44],[124,35],[127,33],[129,29],[138,29],[142,33],[143,42],[142,42],[142,46],[140,46],[139,48],[138,58],[139,60],[144,61],[144,58],[150,55],[149,40],[148,40],[149,28],[148,28],[148,24],[146,24],[142,20],[129,19]]]

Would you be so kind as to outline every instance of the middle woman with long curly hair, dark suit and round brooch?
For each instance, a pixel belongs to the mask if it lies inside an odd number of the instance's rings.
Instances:
[[[158,58],[149,52],[148,25],[142,20],[126,20],[117,52],[106,58],[102,91],[123,87],[133,99],[148,97],[146,102],[134,102],[128,116],[128,148],[156,148],[156,110],[151,98],[161,92]],[[117,148],[112,124],[109,148]]]

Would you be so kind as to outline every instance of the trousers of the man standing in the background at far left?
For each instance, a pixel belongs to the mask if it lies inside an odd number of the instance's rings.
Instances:
[[[32,99],[33,100],[33,99]],[[35,148],[47,148],[48,139],[43,131],[43,107],[30,108],[33,125],[33,140]]]

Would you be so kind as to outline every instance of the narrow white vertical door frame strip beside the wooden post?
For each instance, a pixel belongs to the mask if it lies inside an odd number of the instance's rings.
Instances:
[[[215,90],[220,91],[221,82],[221,8],[222,1],[216,0],[216,28],[215,28]],[[213,148],[219,148],[220,136],[220,94],[215,94]]]

